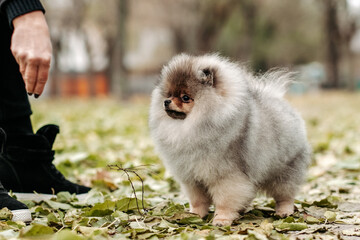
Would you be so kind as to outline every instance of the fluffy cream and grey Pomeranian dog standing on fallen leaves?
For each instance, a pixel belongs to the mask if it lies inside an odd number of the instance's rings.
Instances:
[[[291,74],[262,76],[219,55],[175,56],[152,93],[150,130],[164,165],[204,217],[231,225],[258,191],[276,214],[294,212],[311,150],[299,114],[283,99]]]

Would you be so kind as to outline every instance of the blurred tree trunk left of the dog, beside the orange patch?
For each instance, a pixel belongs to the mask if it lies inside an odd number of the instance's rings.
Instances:
[[[118,1],[118,21],[115,38],[108,39],[108,51],[110,55],[108,76],[110,77],[111,93],[115,96],[128,97],[128,83],[126,81],[126,69],[124,66],[126,20],[128,1]]]

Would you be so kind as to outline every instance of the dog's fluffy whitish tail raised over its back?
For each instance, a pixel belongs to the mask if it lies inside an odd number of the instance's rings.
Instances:
[[[256,76],[252,81],[255,92],[282,98],[289,85],[294,82],[294,72],[285,69],[269,70],[263,75]]]

